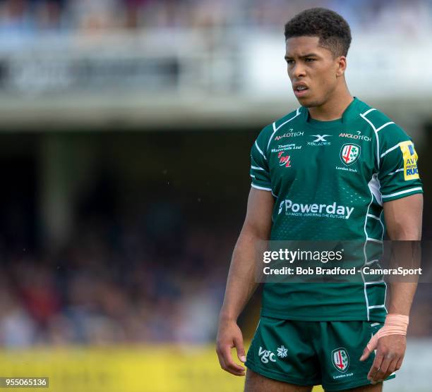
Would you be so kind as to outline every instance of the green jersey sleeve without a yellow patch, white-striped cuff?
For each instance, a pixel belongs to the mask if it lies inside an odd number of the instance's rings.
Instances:
[[[271,192],[272,183],[267,159],[268,130],[264,128],[251,148],[251,178],[252,187]]]

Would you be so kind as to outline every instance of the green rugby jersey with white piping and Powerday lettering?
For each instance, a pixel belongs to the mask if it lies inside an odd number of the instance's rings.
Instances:
[[[251,149],[252,187],[275,197],[271,240],[379,243],[383,202],[423,192],[416,161],[404,130],[354,98],[335,121],[300,107],[266,126]],[[261,314],[383,322],[385,291],[382,281],[265,283]]]

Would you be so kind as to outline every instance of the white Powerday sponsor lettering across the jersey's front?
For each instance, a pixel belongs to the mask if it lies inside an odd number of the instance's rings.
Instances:
[[[341,218],[349,219],[354,207],[337,205],[336,202],[332,204],[303,204],[293,203],[292,200],[285,199],[279,204],[279,212],[277,213],[291,216],[322,216],[325,218]]]

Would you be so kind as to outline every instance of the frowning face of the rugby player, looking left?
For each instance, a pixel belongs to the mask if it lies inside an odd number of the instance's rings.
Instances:
[[[318,46],[318,37],[287,39],[285,60],[294,95],[302,106],[314,107],[328,102],[337,87],[341,57]]]

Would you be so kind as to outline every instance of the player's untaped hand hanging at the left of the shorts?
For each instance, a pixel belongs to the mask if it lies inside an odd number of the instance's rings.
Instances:
[[[236,376],[244,376],[244,367],[237,365],[232,359],[231,349],[233,347],[237,350],[237,357],[239,357],[239,360],[241,362],[246,362],[243,336],[241,335],[239,326],[236,321],[221,320],[216,338],[216,353],[220,367]]]

